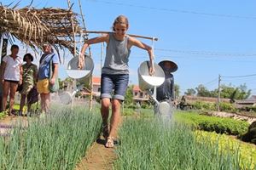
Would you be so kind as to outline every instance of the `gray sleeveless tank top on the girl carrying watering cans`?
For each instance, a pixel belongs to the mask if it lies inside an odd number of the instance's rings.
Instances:
[[[113,37],[113,33],[109,33],[109,42],[102,73],[104,74],[129,74],[129,55],[131,49],[127,48],[128,36],[119,41]]]

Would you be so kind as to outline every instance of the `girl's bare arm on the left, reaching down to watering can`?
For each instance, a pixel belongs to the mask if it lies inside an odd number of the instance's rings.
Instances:
[[[79,69],[82,69],[84,67],[84,54],[88,46],[94,43],[108,42],[108,39],[108,34],[105,34],[101,37],[94,37],[84,42],[83,48],[81,49],[81,53],[79,54]]]

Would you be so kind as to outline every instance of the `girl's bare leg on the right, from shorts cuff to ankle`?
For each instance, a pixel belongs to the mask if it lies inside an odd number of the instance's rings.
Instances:
[[[111,116],[110,133],[109,133],[110,137],[113,137],[114,135],[116,135],[116,131],[119,126],[120,105],[121,105],[121,101],[119,99],[113,99],[112,116]]]

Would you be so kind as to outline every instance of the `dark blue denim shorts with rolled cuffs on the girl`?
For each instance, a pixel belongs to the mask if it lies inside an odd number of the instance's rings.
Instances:
[[[102,74],[101,99],[124,100],[128,82],[128,74]]]

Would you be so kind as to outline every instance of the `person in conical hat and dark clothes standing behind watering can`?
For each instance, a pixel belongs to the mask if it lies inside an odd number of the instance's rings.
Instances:
[[[172,72],[177,71],[177,65],[171,60],[163,60],[158,64],[165,71],[166,80],[156,89],[156,99],[158,101],[169,101],[175,100],[174,93],[174,77]]]

